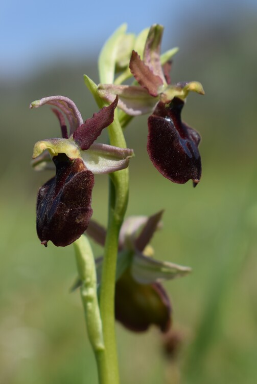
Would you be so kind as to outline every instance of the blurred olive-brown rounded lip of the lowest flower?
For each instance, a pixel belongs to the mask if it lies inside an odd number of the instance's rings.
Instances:
[[[131,331],[143,332],[155,325],[167,332],[171,325],[169,297],[159,283],[139,284],[127,270],[116,283],[115,317]]]

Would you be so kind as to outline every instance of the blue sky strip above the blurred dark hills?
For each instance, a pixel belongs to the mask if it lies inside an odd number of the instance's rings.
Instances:
[[[208,23],[236,12],[238,0],[71,0],[3,2],[0,12],[0,76],[34,71],[60,56],[97,55],[107,37],[124,22],[138,33],[154,23],[165,26],[173,46],[188,23]],[[244,8],[257,2],[244,0]]]

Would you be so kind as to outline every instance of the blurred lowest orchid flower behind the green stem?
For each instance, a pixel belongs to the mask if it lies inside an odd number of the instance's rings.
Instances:
[[[128,218],[120,231],[115,287],[115,317],[132,331],[146,331],[151,325],[162,332],[171,325],[171,304],[160,281],[188,274],[191,269],[153,259],[149,242],[160,226],[162,211],[151,217]],[[90,221],[88,236],[104,245],[106,231]],[[102,258],[97,260],[101,284]]]

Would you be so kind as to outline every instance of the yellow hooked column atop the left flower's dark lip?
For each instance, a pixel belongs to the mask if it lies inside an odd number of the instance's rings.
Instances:
[[[48,150],[50,155],[57,156],[60,153],[65,153],[68,158],[80,158],[80,151],[77,145],[68,139],[51,139],[37,141],[34,145],[32,158],[35,159],[45,150]]]

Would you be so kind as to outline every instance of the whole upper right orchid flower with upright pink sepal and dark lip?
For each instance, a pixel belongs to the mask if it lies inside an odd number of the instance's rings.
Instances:
[[[161,175],[175,183],[201,177],[198,151],[200,135],[181,121],[181,110],[190,91],[204,94],[197,81],[171,84],[171,61],[161,65],[160,45],[163,27],[153,25],[148,33],[143,60],[132,51],[129,68],[136,85],[99,84],[99,95],[112,102],[119,95],[118,106],[126,114],[152,113],[148,119],[147,151]]]

